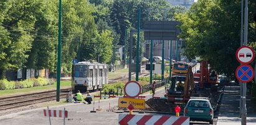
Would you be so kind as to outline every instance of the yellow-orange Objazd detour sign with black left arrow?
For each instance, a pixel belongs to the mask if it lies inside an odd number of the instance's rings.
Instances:
[[[134,108],[145,108],[145,99],[139,98],[118,98],[118,107],[127,108],[129,105],[133,105]]]

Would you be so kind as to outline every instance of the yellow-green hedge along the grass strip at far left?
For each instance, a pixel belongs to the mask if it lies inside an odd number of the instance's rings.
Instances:
[[[17,88],[30,88],[43,85],[54,84],[54,79],[45,79],[43,77],[30,78],[22,81],[8,81],[6,79],[0,80],[0,90],[9,90]]]

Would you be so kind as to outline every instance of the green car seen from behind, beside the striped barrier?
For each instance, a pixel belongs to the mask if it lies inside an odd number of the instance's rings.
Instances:
[[[209,121],[213,124],[214,110],[206,97],[191,97],[185,106],[184,116],[191,121]]]

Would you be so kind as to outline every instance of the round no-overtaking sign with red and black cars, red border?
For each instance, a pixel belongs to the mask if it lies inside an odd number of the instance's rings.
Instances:
[[[242,64],[249,64],[254,61],[254,50],[250,46],[241,46],[237,49],[235,57]]]

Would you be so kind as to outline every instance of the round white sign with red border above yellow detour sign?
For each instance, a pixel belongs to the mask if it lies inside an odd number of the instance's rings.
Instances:
[[[125,84],[125,95],[129,98],[136,98],[140,95],[141,86],[136,81],[128,81]]]

